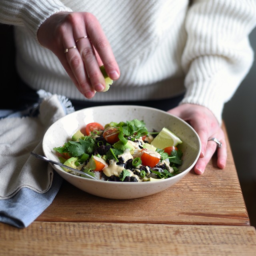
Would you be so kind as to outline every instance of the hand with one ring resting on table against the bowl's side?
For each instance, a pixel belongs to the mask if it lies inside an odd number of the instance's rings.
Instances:
[[[224,132],[218,123],[214,114],[203,106],[195,104],[182,104],[168,111],[186,122],[188,122],[198,133],[201,140],[202,151],[200,158],[194,166],[196,174],[202,174],[212,155],[217,150],[217,166],[223,169],[226,166],[227,148],[224,137]],[[217,138],[222,147],[217,147],[218,144],[210,138]]]

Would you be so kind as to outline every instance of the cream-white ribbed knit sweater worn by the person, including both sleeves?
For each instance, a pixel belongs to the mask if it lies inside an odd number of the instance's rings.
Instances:
[[[120,79],[93,101],[171,98],[206,106],[221,122],[227,102],[253,61],[248,34],[255,0],[1,0],[0,22],[16,26],[17,68],[32,88],[87,100],[37,31],[60,11],[98,18],[120,67]]]

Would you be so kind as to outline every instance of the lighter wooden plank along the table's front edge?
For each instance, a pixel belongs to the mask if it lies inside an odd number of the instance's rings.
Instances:
[[[248,226],[34,222],[17,230],[0,224],[1,256],[184,255],[255,256]]]

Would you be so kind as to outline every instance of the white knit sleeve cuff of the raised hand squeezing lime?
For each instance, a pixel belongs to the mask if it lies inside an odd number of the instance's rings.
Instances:
[[[14,26],[24,26],[37,40],[41,24],[56,12],[72,10],[59,0],[1,0],[0,22]]]

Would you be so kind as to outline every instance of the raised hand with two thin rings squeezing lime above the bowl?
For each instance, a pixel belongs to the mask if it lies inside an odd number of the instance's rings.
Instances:
[[[118,64],[98,20],[88,12],[58,12],[38,30],[38,40],[59,58],[66,72],[86,97],[105,88],[99,66],[108,76],[120,76]]]

